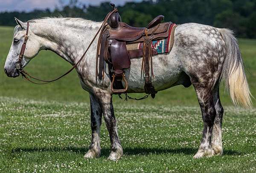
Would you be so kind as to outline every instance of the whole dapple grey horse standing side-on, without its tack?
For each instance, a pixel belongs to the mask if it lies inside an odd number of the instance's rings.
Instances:
[[[16,62],[26,34],[26,23],[17,20],[13,42],[6,59],[5,73],[9,77],[19,76]],[[80,18],[41,18],[29,25],[23,68],[41,50],[51,50],[74,65],[87,48],[102,23]],[[94,41],[76,71],[81,86],[90,94],[91,144],[85,158],[100,155],[99,132],[102,115],[111,141],[109,159],[119,159],[122,145],[119,141],[116,119],[112,104],[111,80],[105,71],[104,81],[96,79],[96,46]],[[128,93],[143,93],[141,79],[142,58],[132,59],[131,68],[125,70]],[[195,88],[204,121],[204,130],[198,152],[194,158],[221,155],[221,123],[224,109],[219,98],[221,79],[225,81],[235,105],[241,103],[250,107],[250,90],[245,77],[241,52],[232,31],[224,28],[197,23],[177,26],[172,51],[153,57],[154,75],[152,80],[156,91],[175,85],[191,84]],[[106,69],[106,68],[105,68]]]

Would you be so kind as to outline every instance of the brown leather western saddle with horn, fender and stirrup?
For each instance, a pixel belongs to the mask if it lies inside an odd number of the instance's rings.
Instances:
[[[151,48],[151,41],[168,37],[169,27],[172,23],[161,23],[164,16],[159,15],[154,18],[147,27],[135,28],[123,23],[115,5],[111,3],[111,6],[113,6],[114,12],[109,16],[108,23],[105,24],[105,27],[102,28],[99,35],[96,77],[102,80],[104,79],[105,61],[108,64],[109,74],[112,78],[111,89],[113,94],[126,93],[128,82],[125,79],[124,69],[130,68],[132,58],[143,57],[141,72],[145,79],[145,93],[151,94],[151,97],[154,98],[157,92],[154,90],[154,86],[151,82],[151,77],[154,77],[152,55],[156,55],[157,51]],[[134,43],[143,43],[143,48],[127,50],[126,45]],[[122,85],[122,80],[125,83],[125,87]]]

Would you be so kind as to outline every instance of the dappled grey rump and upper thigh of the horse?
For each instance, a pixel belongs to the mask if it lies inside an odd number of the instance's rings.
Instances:
[[[208,85],[221,74],[226,54],[225,43],[218,28],[198,23],[185,23],[175,30],[175,46],[182,70]]]

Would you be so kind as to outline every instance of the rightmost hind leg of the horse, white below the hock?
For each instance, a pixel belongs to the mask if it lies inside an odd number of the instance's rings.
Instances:
[[[222,116],[224,113],[224,109],[221,105],[220,95],[219,95],[219,82],[215,84],[213,90],[213,101],[216,110],[216,116],[213,124],[212,130],[212,149],[216,155],[222,155],[222,142],[221,142],[221,124],[222,124]]]

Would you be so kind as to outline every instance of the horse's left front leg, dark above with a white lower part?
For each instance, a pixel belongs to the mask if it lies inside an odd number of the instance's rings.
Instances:
[[[93,94],[90,94],[92,139],[84,158],[95,158],[100,155],[99,132],[102,123],[102,108]]]

